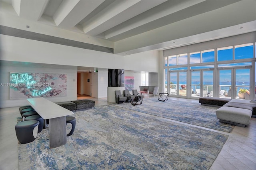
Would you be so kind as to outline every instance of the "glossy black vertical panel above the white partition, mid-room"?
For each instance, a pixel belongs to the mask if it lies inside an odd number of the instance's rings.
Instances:
[[[124,70],[108,69],[108,87],[124,87]]]

